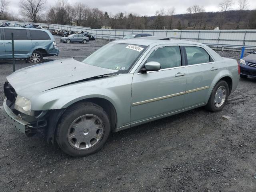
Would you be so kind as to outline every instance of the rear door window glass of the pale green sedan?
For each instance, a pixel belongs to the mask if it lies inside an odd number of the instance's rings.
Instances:
[[[210,55],[201,47],[186,46],[188,65],[212,62]]]

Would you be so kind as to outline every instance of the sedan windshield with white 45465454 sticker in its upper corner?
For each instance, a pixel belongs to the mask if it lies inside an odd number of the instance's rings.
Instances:
[[[119,71],[129,70],[147,46],[109,43],[88,56],[83,63]]]

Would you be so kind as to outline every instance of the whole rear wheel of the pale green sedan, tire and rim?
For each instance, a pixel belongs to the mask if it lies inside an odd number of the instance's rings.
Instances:
[[[220,80],[212,90],[206,108],[212,112],[218,112],[226,105],[229,87],[226,81]]]

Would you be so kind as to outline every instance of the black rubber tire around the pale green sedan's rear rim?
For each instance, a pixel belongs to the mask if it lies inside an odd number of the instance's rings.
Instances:
[[[217,107],[215,105],[215,96],[216,96],[216,92],[217,90],[221,87],[224,86],[226,88],[226,97],[225,100],[223,102],[223,104],[220,107]],[[224,108],[224,106],[226,105],[226,102],[228,100],[228,95],[229,95],[229,87],[228,87],[228,83],[224,80],[220,80],[213,88],[212,93],[210,95],[210,98],[208,100],[208,103],[206,104],[206,109],[212,111],[212,112],[218,112],[220,110],[222,110]]]

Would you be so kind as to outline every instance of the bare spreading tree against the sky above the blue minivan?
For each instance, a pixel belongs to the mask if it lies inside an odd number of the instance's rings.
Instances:
[[[20,0],[20,14],[31,22],[38,22],[42,17],[47,0]]]

